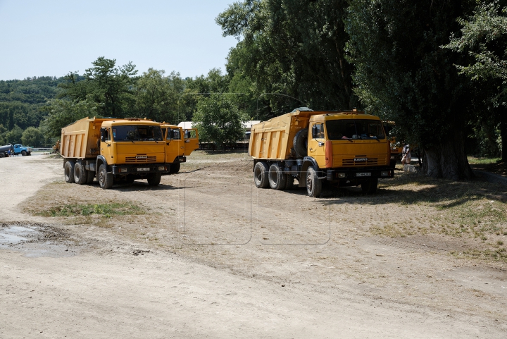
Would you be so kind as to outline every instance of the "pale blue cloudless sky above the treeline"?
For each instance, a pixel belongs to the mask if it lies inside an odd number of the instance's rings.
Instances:
[[[237,43],[218,13],[236,0],[0,0],[0,80],[84,73],[99,56],[182,77],[225,70]]]

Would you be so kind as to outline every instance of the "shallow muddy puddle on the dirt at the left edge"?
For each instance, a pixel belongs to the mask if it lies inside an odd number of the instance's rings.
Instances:
[[[0,223],[0,250],[20,251],[26,257],[73,257],[80,245],[65,230],[42,223]]]

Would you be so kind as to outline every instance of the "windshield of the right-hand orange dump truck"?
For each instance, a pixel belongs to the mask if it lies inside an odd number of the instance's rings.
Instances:
[[[329,140],[385,139],[382,123],[375,120],[329,120],[326,130]]]

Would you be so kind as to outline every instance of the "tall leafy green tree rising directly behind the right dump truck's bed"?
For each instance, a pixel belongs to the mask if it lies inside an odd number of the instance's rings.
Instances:
[[[263,93],[288,94],[318,109],[356,106],[353,67],[345,59],[347,6],[345,0],[246,0],[230,5],[216,20],[224,36],[240,40],[227,59],[232,85],[248,87],[255,106]],[[260,101],[259,118],[302,106],[275,95]],[[256,114],[252,106],[250,115]]]

